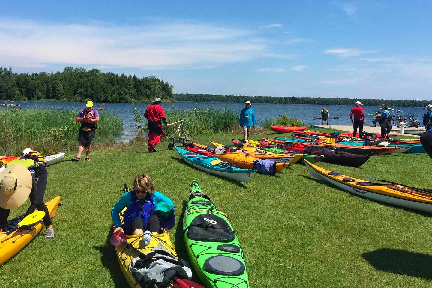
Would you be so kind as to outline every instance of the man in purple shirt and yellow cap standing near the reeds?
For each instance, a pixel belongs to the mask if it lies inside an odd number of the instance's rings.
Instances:
[[[88,101],[86,108],[82,109],[76,115],[76,122],[81,126],[78,130],[78,155],[73,157],[72,161],[81,161],[81,153],[86,147],[86,160],[90,160],[90,151],[92,149],[92,140],[96,132],[96,123],[99,122],[99,112],[93,109],[93,102]]]

